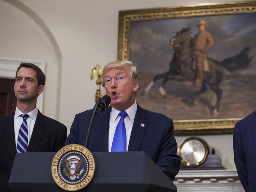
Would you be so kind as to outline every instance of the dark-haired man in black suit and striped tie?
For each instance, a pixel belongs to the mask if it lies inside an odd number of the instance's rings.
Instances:
[[[8,182],[16,152],[57,152],[65,145],[67,128],[37,109],[37,97],[44,91],[45,76],[38,66],[21,63],[14,85],[16,110],[0,118],[0,191],[12,191]],[[22,114],[28,114],[24,124]],[[25,146],[19,142],[22,133]],[[23,135],[23,136],[24,136]],[[40,165],[38,165],[40,166]],[[40,174],[40,173],[38,173]],[[29,175],[28,175],[29,176]]]

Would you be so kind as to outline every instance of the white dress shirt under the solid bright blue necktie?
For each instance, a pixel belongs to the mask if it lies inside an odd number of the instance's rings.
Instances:
[[[129,107],[125,111],[128,114],[128,116],[124,118],[125,130],[126,130],[126,151],[128,151],[129,141],[130,141],[131,132],[132,132],[132,125],[133,125],[135,114],[137,111],[136,101],[131,107]],[[111,151],[116,126],[119,120],[121,119],[121,116],[118,115],[119,113],[120,111],[116,110],[113,107],[111,108],[110,118],[109,118],[109,152]]]

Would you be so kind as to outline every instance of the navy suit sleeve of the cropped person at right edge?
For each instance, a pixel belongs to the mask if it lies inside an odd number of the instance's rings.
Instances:
[[[241,134],[241,127],[238,123],[235,124],[233,135],[234,161],[241,184],[245,191],[249,191],[246,157],[243,150],[243,142],[241,141],[241,135],[243,134]]]

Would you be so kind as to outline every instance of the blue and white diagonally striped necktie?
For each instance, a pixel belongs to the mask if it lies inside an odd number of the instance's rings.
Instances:
[[[22,114],[23,122],[21,128],[19,128],[18,142],[17,142],[17,152],[26,152],[28,149],[28,124],[26,119],[28,119],[28,114]]]

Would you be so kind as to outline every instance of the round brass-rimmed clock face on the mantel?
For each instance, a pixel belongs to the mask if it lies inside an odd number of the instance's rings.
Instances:
[[[208,155],[206,142],[197,137],[185,139],[178,149],[178,154],[182,158],[182,163],[195,167],[202,164]]]

